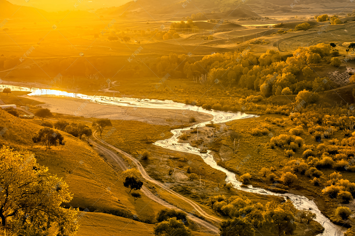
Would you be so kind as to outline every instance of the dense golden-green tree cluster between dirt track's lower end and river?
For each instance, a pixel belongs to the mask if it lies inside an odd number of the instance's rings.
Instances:
[[[224,195],[215,195],[209,197],[209,204],[214,211],[230,218],[220,225],[223,235],[254,235],[254,228],[288,235],[296,229],[296,218],[302,220],[300,211],[289,200],[282,204],[271,201],[264,206],[260,202],[252,204],[246,197],[232,196],[227,200]]]

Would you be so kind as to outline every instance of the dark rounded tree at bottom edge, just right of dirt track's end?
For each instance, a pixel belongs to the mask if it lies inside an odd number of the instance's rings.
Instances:
[[[254,229],[251,223],[242,217],[223,220],[218,227],[220,235],[223,236],[254,236]]]

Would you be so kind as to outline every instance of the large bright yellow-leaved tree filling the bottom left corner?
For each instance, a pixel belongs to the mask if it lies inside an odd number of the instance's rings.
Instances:
[[[61,207],[73,198],[68,185],[40,166],[33,153],[3,146],[0,170],[0,218],[4,228],[13,235],[44,235],[55,226],[58,235],[75,234],[78,209]]]

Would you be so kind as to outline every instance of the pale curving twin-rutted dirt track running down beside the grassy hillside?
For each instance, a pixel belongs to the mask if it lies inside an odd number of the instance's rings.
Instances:
[[[189,205],[191,205],[195,210],[196,212],[198,212],[200,215],[202,215],[203,217],[207,218],[207,219],[210,219],[210,220],[213,220],[217,223],[221,222],[221,220],[217,217],[214,217],[213,215],[209,215],[208,213],[204,212],[203,209],[198,206],[195,202],[191,201],[190,199],[174,192],[173,190],[169,189],[169,188],[166,188],[166,186],[164,186],[164,184],[158,182],[157,180],[151,178],[148,173],[144,170],[143,166],[141,165],[141,163],[139,161],[137,161],[132,155],[128,154],[127,152],[124,152],[118,148],[116,148],[115,146],[113,145],[110,145],[108,144],[107,142],[103,141],[102,139],[99,139],[97,137],[97,132],[95,131],[93,133],[93,138],[96,139],[98,142],[108,146],[109,148],[119,152],[121,155],[124,155],[126,156],[127,158],[129,158],[133,163],[135,163],[135,165],[137,166],[137,169],[138,171],[140,171],[140,173],[142,174],[142,177],[144,179],[146,179],[147,181],[149,182],[152,182],[158,186],[160,186],[161,188],[163,188],[164,190],[168,191],[170,194],[173,194],[174,196],[180,198],[181,200],[184,200],[186,203],[188,203]],[[107,154],[108,156],[110,156],[113,160],[115,160],[118,165],[120,166],[120,168],[122,170],[126,170],[127,169],[127,166],[125,165],[124,161],[121,159],[120,156],[118,156],[114,151],[108,149],[108,148],[105,148],[103,145],[100,145],[99,143],[97,142],[93,142],[93,144],[98,148],[100,149],[102,152],[104,152],[105,154]],[[167,208],[171,208],[171,209],[179,209],[178,207],[174,206],[174,205],[171,205],[170,203],[160,199],[159,197],[157,197],[156,195],[154,195],[151,191],[149,191],[145,186],[142,187],[142,192],[144,193],[144,195],[146,195],[147,197],[149,197],[150,199],[152,199],[153,201],[159,203],[160,205],[163,205],[164,207],[167,207]],[[181,210],[181,209],[179,209]],[[202,225],[203,227],[211,230],[212,232],[218,234],[219,233],[219,230],[216,226],[208,223],[207,221],[204,221],[198,217],[195,217],[194,215],[186,212],[188,215],[189,215],[189,218],[192,220],[192,221],[195,221],[196,223]]]

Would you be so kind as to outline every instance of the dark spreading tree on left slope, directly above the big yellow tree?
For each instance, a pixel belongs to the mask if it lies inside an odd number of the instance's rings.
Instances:
[[[43,142],[47,149],[50,149],[52,145],[64,145],[63,139],[64,138],[60,133],[57,133],[50,128],[42,128],[32,137],[34,143]]]

